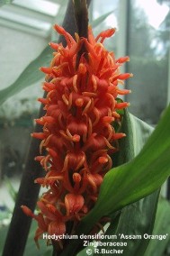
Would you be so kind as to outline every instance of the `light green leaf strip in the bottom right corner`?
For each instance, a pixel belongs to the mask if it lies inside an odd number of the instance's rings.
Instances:
[[[166,239],[151,239],[148,243],[148,249],[145,256],[164,255],[168,243],[170,243],[170,203],[166,199],[161,198],[157,207],[156,223],[153,235],[167,235]]]

